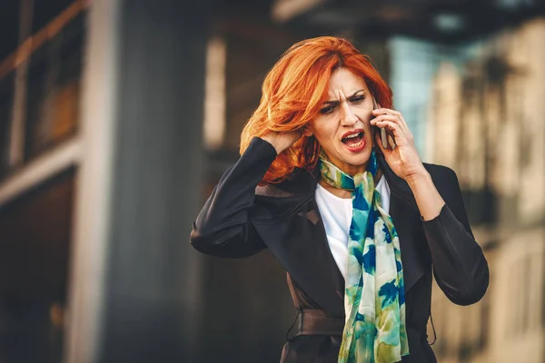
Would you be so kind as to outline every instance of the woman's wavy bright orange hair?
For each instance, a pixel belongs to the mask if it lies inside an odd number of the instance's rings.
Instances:
[[[368,55],[339,37],[303,40],[282,54],[265,77],[261,102],[243,128],[241,154],[254,136],[300,130],[309,123],[326,101],[332,73],[341,67],[361,76],[377,103],[391,108],[391,89]],[[312,170],[319,154],[316,139],[302,137],[276,157],[262,183],[282,182],[295,168]]]

